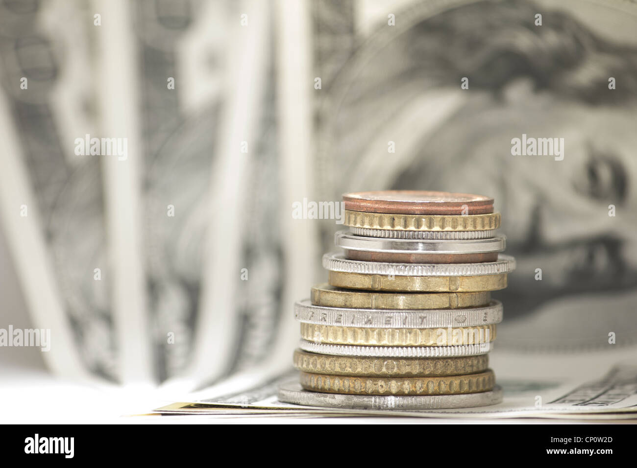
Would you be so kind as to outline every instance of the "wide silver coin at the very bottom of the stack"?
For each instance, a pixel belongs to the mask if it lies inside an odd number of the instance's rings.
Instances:
[[[502,388],[494,386],[489,392],[463,395],[341,395],[304,390],[297,382],[279,386],[278,400],[283,403],[324,408],[352,409],[451,409],[476,408],[501,403]]]

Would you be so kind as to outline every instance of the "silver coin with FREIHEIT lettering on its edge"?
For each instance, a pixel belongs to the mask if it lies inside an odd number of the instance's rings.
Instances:
[[[502,322],[502,302],[466,309],[345,309],[312,305],[310,299],[294,304],[294,318],[303,323],[330,327],[431,329],[477,327]]]

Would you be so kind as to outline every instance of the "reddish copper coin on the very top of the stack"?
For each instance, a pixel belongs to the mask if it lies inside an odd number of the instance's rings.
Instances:
[[[426,190],[375,190],[343,194],[345,209],[401,215],[485,215],[493,199],[482,195]],[[462,209],[467,210],[462,213]]]

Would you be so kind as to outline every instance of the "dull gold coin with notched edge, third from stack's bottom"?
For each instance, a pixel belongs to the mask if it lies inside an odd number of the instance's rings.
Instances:
[[[459,376],[487,369],[489,355],[438,358],[350,357],[295,350],[294,367],[313,374],[355,377]]]

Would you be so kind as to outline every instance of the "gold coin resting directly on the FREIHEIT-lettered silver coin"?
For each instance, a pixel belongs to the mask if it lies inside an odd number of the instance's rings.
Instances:
[[[456,309],[486,306],[491,293],[484,292],[369,292],[335,288],[326,283],[311,289],[315,306],[350,309]]]

